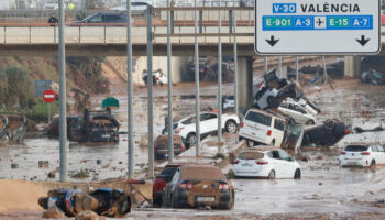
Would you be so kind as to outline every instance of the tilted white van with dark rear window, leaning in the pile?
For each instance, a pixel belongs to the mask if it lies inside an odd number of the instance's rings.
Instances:
[[[240,128],[240,139],[252,142],[282,146],[285,140],[287,122],[284,118],[258,109],[250,109]]]

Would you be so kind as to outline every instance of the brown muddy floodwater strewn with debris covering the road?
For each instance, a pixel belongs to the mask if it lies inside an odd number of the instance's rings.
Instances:
[[[353,129],[355,127],[373,129],[385,121],[383,91],[384,87],[362,85],[356,80],[343,80],[337,82],[336,89],[312,90],[307,97],[316,101],[322,110],[317,118],[318,123],[326,119],[340,119],[351,124]],[[125,130],[127,99],[123,96],[120,99],[123,106],[120,112],[122,130]],[[202,108],[213,106],[213,97],[204,97]],[[167,100],[163,98],[154,101],[155,136],[164,128],[166,105]],[[139,170],[142,166],[146,166],[147,160],[147,147],[139,146],[141,136],[147,129],[146,99],[135,97],[134,108],[138,163],[135,169]],[[175,116],[194,113],[194,98],[175,98]],[[378,200],[385,199],[385,168],[341,168],[338,162],[339,152],[346,143],[373,141],[384,144],[385,132],[352,133],[336,146],[322,148],[308,146],[300,150],[296,155],[302,173],[299,180],[232,179],[235,188],[235,205],[229,211],[135,208],[127,219],[169,219],[170,216],[183,219],[190,219],[191,216],[198,219],[199,217],[244,219],[249,217],[248,215],[266,217],[290,213],[301,217],[309,215],[314,217],[319,213],[336,219],[344,217],[354,219],[363,216],[366,219],[382,219],[376,215],[385,215],[385,209],[376,205]],[[24,144],[1,146],[0,154],[0,178],[45,180],[48,172],[58,167],[57,140],[28,139]],[[70,144],[68,170],[72,174],[88,169],[89,177],[82,180],[120,177],[127,173],[127,135],[122,135],[121,142],[116,145]],[[38,167],[38,161],[48,161],[48,167]],[[12,164],[18,164],[18,167],[12,168]],[[58,173],[53,179],[57,178]],[[286,219],[285,217],[280,216],[278,219]]]

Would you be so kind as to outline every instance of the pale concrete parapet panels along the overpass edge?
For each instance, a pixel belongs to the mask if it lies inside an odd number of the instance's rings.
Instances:
[[[154,44],[165,44],[167,36],[166,26],[153,26]],[[223,43],[231,43],[233,34],[227,28],[222,28],[220,34]],[[218,28],[205,26],[204,33],[198,34],[200,43],[215,44],[218,42]],[[252,28],[239,28],[235,33],[239,43],[252,43],[254,34]],[[172,36],[173,44],[194,43],[194,26],[179,26]],[[66,26],[65,41],[69,44],[124,44],[127,43],[127,28],[117,26]],[[58,42],[58,29],[56,26],[2,26],[0,28],[0,44],[56,44]],[[146,28],[132,29],[133,44],[146,43]]]

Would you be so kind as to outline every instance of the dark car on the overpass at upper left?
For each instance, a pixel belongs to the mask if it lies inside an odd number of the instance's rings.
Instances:
[[[76,21],[69,24],[70,26],[92,26],[92,25],[106,25],[106,26],[125,26],[127,14],[116,12],[97,12],[81,21]]]

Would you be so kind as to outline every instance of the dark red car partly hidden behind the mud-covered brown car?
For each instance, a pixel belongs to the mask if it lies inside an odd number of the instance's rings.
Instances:
[[[167,164],[160,175],[156,176],[153,185],[153,204],[154,206],[162,206],[163,189],[166,187],[168,182],[174,177],[176,169],[182,164]]]

